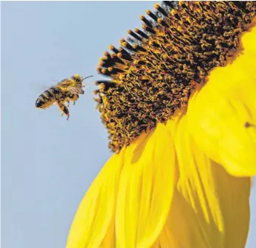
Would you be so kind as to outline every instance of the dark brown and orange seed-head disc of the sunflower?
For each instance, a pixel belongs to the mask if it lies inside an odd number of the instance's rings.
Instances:
[[[97,68],[109,78],[94,93],[113,152],[187,107],[196,85],[235,54],[256,1],[164,1],[155,9]]]

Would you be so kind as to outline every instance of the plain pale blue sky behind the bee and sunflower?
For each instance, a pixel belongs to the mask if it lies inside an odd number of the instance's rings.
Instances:
[[[92,95],[97,64],[153,4],[1,2],[2,248],[65,247],[77,206],[111,155]],[[94,78],[69,121],[56,106],[35,108],[44,88],[73,74]],[[246,248],[256,247],[255,188]]]

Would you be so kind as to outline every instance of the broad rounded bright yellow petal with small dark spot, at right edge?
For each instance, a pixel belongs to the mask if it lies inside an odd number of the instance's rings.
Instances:
[[[187,110],[198,146],[230,174],[241,177],[256,174],[255,40],[256,27],[243,35],[243,54],[232,64],[215,68]]]

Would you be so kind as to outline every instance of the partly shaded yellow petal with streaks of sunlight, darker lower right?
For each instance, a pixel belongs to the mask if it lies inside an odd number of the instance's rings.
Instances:
[[[174,123],[176,121],[176,123]],[[190,135],[187,116],[168,121],[179,164],[179,182],[162,248],[243,248],[249,229],[249,177],[228,174]]]

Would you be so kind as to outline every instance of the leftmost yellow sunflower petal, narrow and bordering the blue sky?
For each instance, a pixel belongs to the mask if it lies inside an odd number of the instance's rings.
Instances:
[[[114,247],[114,213],[122,166],[123,150],[108,160],[84,196],[66,248]]]

